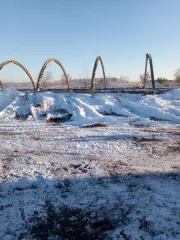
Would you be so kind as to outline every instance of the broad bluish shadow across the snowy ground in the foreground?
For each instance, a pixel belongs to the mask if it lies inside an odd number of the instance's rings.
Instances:
[[[179,189],[180,172],[4,182],[0,239],[180,239]]]

